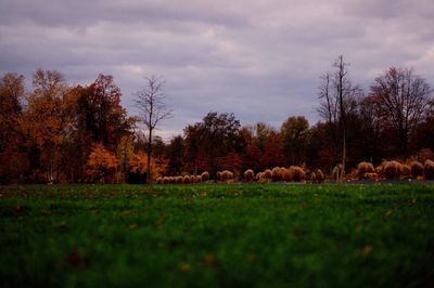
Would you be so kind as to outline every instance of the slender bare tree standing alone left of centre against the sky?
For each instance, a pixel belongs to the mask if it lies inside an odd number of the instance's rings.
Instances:
[[[148,162],[146,162],[146,183],[152,182],[151,156],[152,156],[152,136],[161,120],[171,118],[171,109],[165,104],[163,87],[165,81],[162,78],[151,76],[146,79],[146,86],[137,92],[138,99],[135,101],[140,110],[140,120],[148,131]]]

